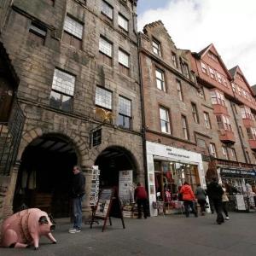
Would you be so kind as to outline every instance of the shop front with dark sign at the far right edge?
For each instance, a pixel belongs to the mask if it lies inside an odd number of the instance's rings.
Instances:
[[[219,167],[218,174],[227,189],[230,210],[249,211],[255,208],[256,172],[253,169]]]

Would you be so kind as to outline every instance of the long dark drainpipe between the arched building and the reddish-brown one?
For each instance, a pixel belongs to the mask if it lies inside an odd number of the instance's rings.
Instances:
[[[132,5],[133,10],[133,5]],[[146,136],[145,136],[145,109],[144,109],[144,97],[143,97],[143,77],[142,77],[142,67],[141,67],[141,39],[138,32],[135,30],[135,13],[132,12],[133,21],[133,32],[137,35],[137,57],[138,57],[138,74],[139,74],[139,86],[141,93],[141,107],[142,107],[142,132],[143,132],[143,162],[144,162],[144,177],[145,177],[145,188],[148,188],[148,165],[147,165],[147,153],[146,153]]]

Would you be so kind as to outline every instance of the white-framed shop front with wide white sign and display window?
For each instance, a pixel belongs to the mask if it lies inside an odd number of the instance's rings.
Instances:
[[[194,191],[198,183],[206,187],[201,154],[147,142],[147,163],[151,216],[158,215],[159,206],[166,214],[182,211],[178,189],[185,181]]]

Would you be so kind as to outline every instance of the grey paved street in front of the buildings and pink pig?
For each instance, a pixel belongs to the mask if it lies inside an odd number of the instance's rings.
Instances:
[[[147,219],[112,218],[113,226],[102,233],[102,224],[84,225],[82,232],[69,234],[68,219],[57,220],[56,245],[44,237],[38,251],[0,248],[0,255],[254,255],[256,252],[256,213],[231,212],[230,220],[218,225],[216,215],[199,218],[168,215]]]

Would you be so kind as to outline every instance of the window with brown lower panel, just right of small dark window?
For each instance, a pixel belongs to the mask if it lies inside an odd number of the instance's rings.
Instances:
[[[81,49],[84,26],[73,18],[66,16],[64,21],[63,42],[76,49]]]

